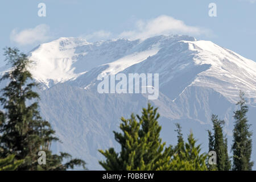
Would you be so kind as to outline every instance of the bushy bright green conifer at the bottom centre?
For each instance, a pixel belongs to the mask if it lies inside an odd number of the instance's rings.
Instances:
[[[159,114],[157,108],[148,104],[147,109],[143,108],[142,116],[134,114],[130,119],[122,118],[120,129],[123,133],[114,131],[115,140],[121,144],[119,154],[114,148],[102,151],[106,157],[105,162],[100,162],[106,170],[168,170],[172,146],[164,147],[160,139],[160,130],[157,119]]]

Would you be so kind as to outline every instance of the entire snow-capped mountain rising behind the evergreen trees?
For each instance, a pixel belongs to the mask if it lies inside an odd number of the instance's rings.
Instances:
[[[246,94],[256,132],[256,63],[209,41],[182,35],[96,43],[60,38],[33,49],[30,59],[30,71],[43,85],[42,115],[63,142],[53,149],[84,159],[89,169],[100,169],[98,149],[118,148],[112,131],[118,130],[119,118],[141,113],[148,102],[146,94],[98,93],[98,76],[159,73],[159,97],[150,102],[159,107],[167,143],[176,143],[174,123],[179,122],[207,151],[210,115],[218,114],[226,121],[230,147],[239,90]]]

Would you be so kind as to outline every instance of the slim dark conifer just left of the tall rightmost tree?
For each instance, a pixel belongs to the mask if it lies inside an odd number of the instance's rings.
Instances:
[[[228,142],[223,134],[224,120],[218,119],[217,115],[212,115],[214,134],[208,131],[209,134],[209,151],[215,151],[217,157],[217,165],[209,165],[209,169],[217,169],[219,171],[229,171],[231,163],[228,156]]]

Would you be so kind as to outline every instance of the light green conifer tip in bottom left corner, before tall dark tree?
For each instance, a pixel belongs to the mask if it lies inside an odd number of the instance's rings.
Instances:
[[[0,159],[0,171],[14,171],[23,160],[14,160],[14,155],[9,155],[5,159]]]

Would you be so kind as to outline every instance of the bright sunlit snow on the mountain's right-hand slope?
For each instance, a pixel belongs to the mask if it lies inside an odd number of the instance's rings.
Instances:
[[[246,95],[256,102],[254,61],[209,41],[189,42],[189,48],[193,51],[199,49],[195,57],[196,64],[211,65],[207,71],[198,75],[193,85],[212,87],[230,100],[236,98],[237,90],[245,90]]]

